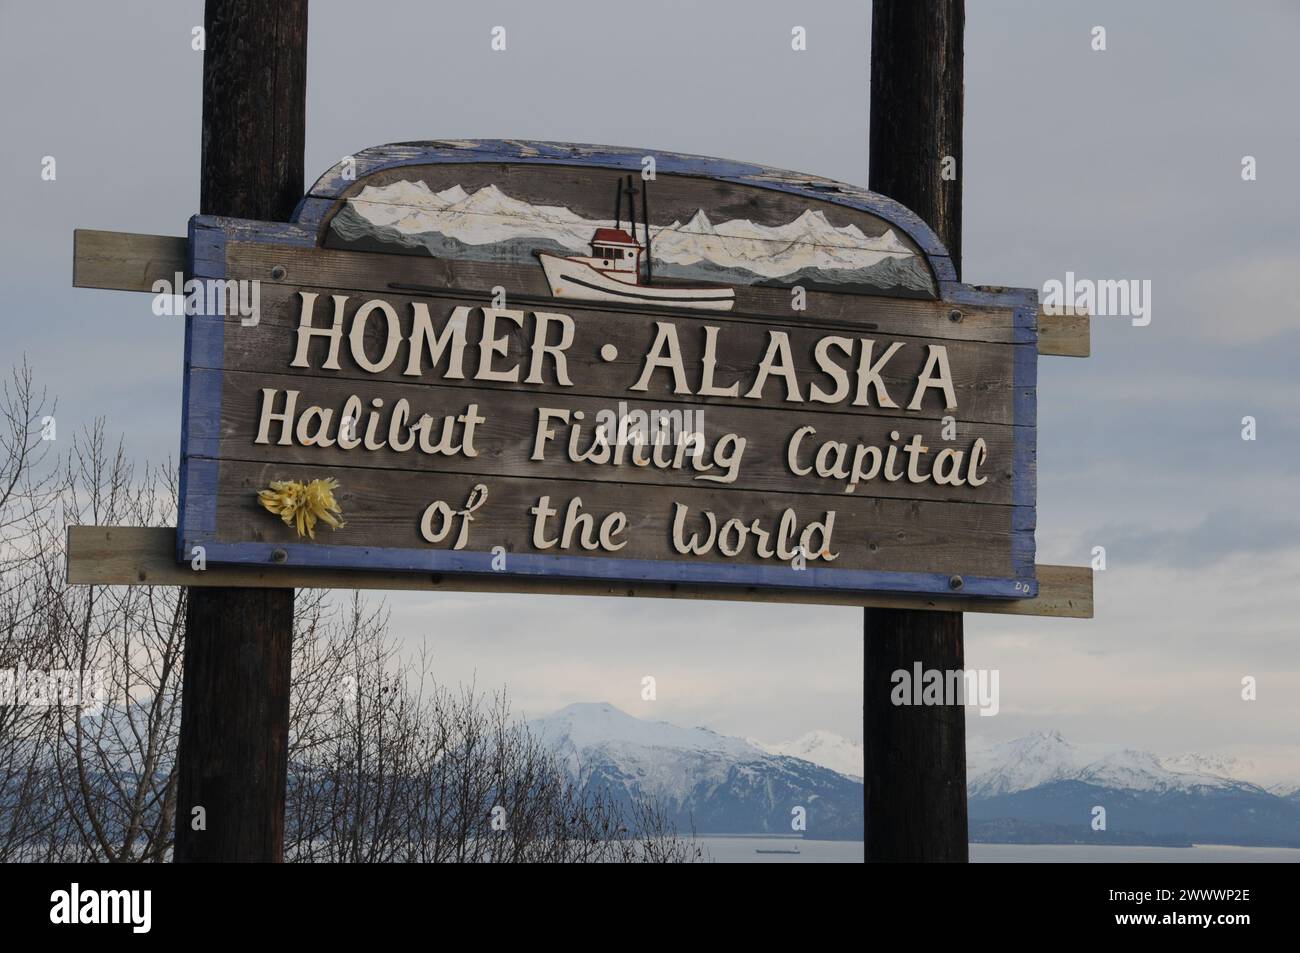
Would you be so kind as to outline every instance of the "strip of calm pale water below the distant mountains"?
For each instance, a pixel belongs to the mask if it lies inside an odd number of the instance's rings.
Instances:
[[[862,841],[798,837],[701,837],[719,863],[862,863]],[[798,850],[759,854],[758,850]],[[1074,844],[971,844],[972,863],[1300,863],[1295,848],[1087,846]]]

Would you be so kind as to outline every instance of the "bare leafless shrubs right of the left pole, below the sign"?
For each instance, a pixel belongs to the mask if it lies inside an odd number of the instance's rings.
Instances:
[[[699,859],[654,806],[580,793],[503,693],[438,685],[428,655],[399,662],[381,610],[354,598],[318,631],[333,688],[295,675],[317,703],[295,707],[287,859]]]

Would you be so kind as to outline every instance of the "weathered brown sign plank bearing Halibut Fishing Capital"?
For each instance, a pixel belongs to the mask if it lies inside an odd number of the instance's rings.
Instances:
[[[287,361],[286,361],[287,363]],[[196,369],[195,381],[214,376],[216,371]],[[213,382],[212,386],[217,386]],[[263,463],[296,464],[295,468],[304,472],[316,467],[330,465],[341,468],[365,468],[384,471],[416,471],[420,473],[445,472],[464,473],[473,476],[508,476],[533,472],[538,477],[590,480],[598,482],[618,482],[625,485],[647,486],[714,486],[719,490],[763,490],[768,493],[798,493],[798,494],[824,494],[831,499],[824,501],[827,506],[835,506],[836,499],[844,499],[849,486],[854,484],[853,477],[823,477],[815,469],[809,473],[797,475],[789,467],[788,449],[794,434],[805,426],[815,425],[815,432],[805,434],[797,446],[796,463],[801,468],[814,468],[818,449],[826,441],[844,443],[848,447],[845,465],[849,473],[853,472],[853,460],[857,446],[878,447],[879,452],[888,454],[890,446],[898,447],[898,468],[896,473],[906,471],[906,456],[904,445],[920,434],[922,446],[928,451],[919,458],[918,475],[928,476],[936,462],[936,455],[944,449],[952,449],[962,454],[962,468],[972,459],[972,446],[975,439],[983,439],[987,447],[987,458],[978,467],[978,478],[984,480],[979,486],[953,486],[940,485],[933,480],[926,482],[910,482],[906,477],[889,481],[881,473],[872,480],[857,481],[853,493],[857,497],[890,497],[898,499],[940,499],[954,502],[968,502],[980,504],[1010,504],[1013,499],[1013,451],[1014,428],[1002,424],[972,424],[965,423],[959,428],[958,437],[952,441],[942,438],[944,425],[939,415],[915,416],[901,420],[897,417],[867,416],[855,413],[820,413],[807,410],[767,410],[759,407],[710,407],[707,411],[698,406],[676,402],[654,402],[630,398],[582,398],[569,393],[550,393],[545,397],[525,394],[519,391],[491,391],[467,387],[450,387],[432,384],[385,384],[376,386],[374,382],[348,381],[332,378],[304,378],[286,374],[273,374],[264,372],[226,371],[220,382],[221,408],[220,417],[217,408],[195,407],[191,408],[191,434],[211,433],[220,441],[217,456],[221,459],[243,459]],[[270,389],[274,394],[268,399],[263,391]],[[403,451],[393,449],[391,443],[378,450],[365,450],[355,447],[344,450],[339,446],[302,446],[298,442],[285,446],[281,439],[292,436],[294,426],[287,428],[280,423],[268,421],[266,441],[257,443],[260,436],[260,421],[264,406],[268,413],[283,412],[287,406],[289,391],[298,391],[294,412],[295,420],[302,420],[312,406],[322,407],[333,412],[334,426],[330,429],[330,439],[338,433],[338,424],[343,416],[347,402],[356,397],[361,408],[355,424],[356,438],[360,439],[369,430],[369,412],[372,397],[381,395],[385,406],[376,413],[376,434],[381,441],[391,437],[390,421],[396,402],[406,400],[410,408],[408,424],[413,424],[428,413],[436,421],[436,430],[429,442],[437,445],[441,434],[446,429],[446,417],[459,417],[468,415],[473,407],[474,416],[481,417],[473,428],[472,441],[474,456],[464,454],[426,454],[420,449],[416,439],[412,446]],[[543,459],[534,460],[534,446],[537,434],[542,426],[540,408],[567,411],[568,424],[563,417],[550,416],[546,429],[554,432],[554,437],[545,441],[542,446]],[[571,432],[577,430],[577,447],[580,454],[585,454],[593,445],[594,432],[607,416],[618,413],[644,415],[642,420],[653,420],[654,413],[679,415],[670,417],[670,424],[676,420],[676,426],[699,433],[705,441],[699,468],[693,464],[690,454],[684,452],[681,465],[676,464],[676,432],[666,432],[668,443],[660,450],[660,462],[671,462],[673,465],[659,467],[654,463],[637,465],[633,463],[634,451],[630,445],[611,449],[615,459],[621,459],[621,464],[612,462],[603,464],[578,463],[569,459]],[[581,415],[581,417],[576,416]],[[636,426],[633,421],[632,426]],[[198,428],[198,430],[195,430]],[[312,428],[315,429],[315,428]],[[402,428],[400,441],[407,439],[407,428]],[[464,424],[454,421],[451,430],[458,434],[455,445],[463,443]],[[892,434],[897,433],[898,439]],[[729,482],[719,482],[715,477],[728,472],[727,467],[715,462],[715,449],[718,442],[727,434],[736,434],[745,441],[740,449],[740,462],[736,465],[734,478]],[[615,437],[615,441],[618,438]],[[653,434],[646,433],[645,439],[651,441]],[[738,446],[734,441],[724,445],[727,455],[734,452]],[[728,450],[729,449],[729,450]],[[642,460],[651,460],[653,445],[647,446],[641,455]],[[835,459],[833,456],[827,459]],[[867,458],[864,458],[866,460]],[[1032,455],[1023,462],[1032,468],[1036,465]],[[864,463],[870,467],[870,463]]]

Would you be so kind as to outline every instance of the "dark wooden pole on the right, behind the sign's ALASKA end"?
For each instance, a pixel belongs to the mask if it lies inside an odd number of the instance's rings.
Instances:
[[[872,3],[870,187],[919,215],[958,276],[965,27],[965,0]],[[963,667],[962,614],[864,612],[867,859],[965,863],[966,711],[890,701],[896,671]]]

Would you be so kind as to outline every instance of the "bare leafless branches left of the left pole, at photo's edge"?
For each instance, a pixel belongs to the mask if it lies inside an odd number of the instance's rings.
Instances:
[[[62,673],[66,694],[14,706],[23,723],[0,732],[0,749],[22,751],[25,766],[22,785],[0,801],[12,828],[0,850],[20,859],[161,859],[174,815],[185,592],[69,586],[64,527],[165,524],[174,486],[165,473],[136,476],[103,425],[74,438],[42,480],[43,503],[29,511],[16,547],[25,558],[4,571],[0,612],[21,633],[13,666]]]

